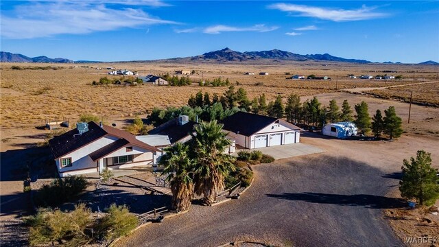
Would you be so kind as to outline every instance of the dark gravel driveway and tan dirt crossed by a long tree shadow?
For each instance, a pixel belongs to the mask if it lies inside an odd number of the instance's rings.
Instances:
[[[278,246],[401,246],[383,209],[405,207],[385,193],[397,185],[403,158],[424,148],[439,158],[437,138],[342,141],[316,134],[302,141],[327,150],[254,166],[239,200],[141,228],[117,246],[219,246],[252,240]]]

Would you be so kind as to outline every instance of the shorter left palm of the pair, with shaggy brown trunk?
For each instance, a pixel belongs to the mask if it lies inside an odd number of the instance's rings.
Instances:
[[[165,154],[158,162],[164,165],[163,174],[171,184],[172,208],[185,211],[191,207],[193,198],[193,160],[188,156],[189,146],[176,143],[165,148]]]

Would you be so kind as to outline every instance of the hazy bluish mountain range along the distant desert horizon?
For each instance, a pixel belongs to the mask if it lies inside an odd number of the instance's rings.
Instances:
[[[210,51],[198,56],[191,56],[187,58],[170,58],[162,59],[161,61],[170,60],[173,62],[187,62],[187,61],[211,61],[211,62],[251,62],[264,59],[274,60],[288,60],[288,61],[331,61],[331,62],[353,62],[366,64],[371,63],[368,60],[348,59],[331,56],[330,54],[307,54],[300,55],[294,54],[289,51],[281,51],[278,49],[272,49],[270,51],[233,51],[229,48],[224,48],[218,51]],[[67,58],[47,58],[47,56],[38,56],[35,58],[29,58],[21,54],[12,54],[10,52],[0,51],[0,62],[54,62],[54,63],[69,63],[69,62],[97,62],[97,61],[72,61]],[[139,61],[142,62],[142,61]],[[384,62],[386,64],[392,64],[393,62]],[[396,62],[399,64],[400,62]],[[438,65],[438,62],[425,61],[419,64]]]

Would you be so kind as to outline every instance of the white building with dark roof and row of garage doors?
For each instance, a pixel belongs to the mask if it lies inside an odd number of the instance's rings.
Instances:
[[[283,119],[237,112],[223,119],[224,130],[235,134],[236,144],[243,148],[263,148],[298,143],[300,128]]]

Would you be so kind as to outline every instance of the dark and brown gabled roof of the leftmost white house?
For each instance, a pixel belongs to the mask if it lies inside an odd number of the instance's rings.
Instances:
[[[54,154],[54,158],[58,158],[60,156],[64,156],[65,154],[69,154],[70,152],[73,152],[74,150],[77,150],[78,148],[81,148],[82,146],[91,143],[92,141],[104,137],[107,134],[113,137],[118,137],[119,139],[125,139],[126,141],[128,141],[128,143],[136,145],[140,148],[160,152],[158,148],[137,140],[136,136],[134,136],[134,134],[131,134],[130,132],[119,130],[117,128],[112,128],[106,125],[101,128],[93,121],[88,122],[87,132],[79,134],[78,130],[76,129],[70,130],[69,132],[61,134],[58,137],[50,139],[49,144]],[[112,147],[114,148],[115,146]]]

